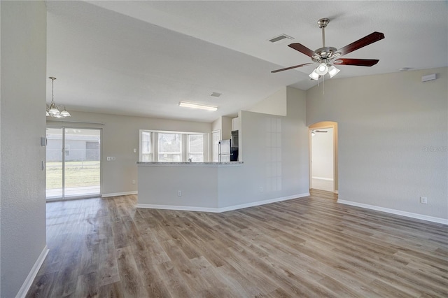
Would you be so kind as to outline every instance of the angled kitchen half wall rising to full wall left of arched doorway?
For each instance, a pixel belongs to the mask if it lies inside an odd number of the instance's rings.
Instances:
[[[144,175],[139,177],[144,183],[141,189],[154,193],[148,197],[139,194],[139,204],[222,209],[309,194],[305,92],[288,87],[287,97],[286,117],[239,113],[239,141],[244,148],[241,166],[139,166]],[[161,180],[164,173],[171,179]],[[177,190],[184,189],[188,192],[178,197]]]

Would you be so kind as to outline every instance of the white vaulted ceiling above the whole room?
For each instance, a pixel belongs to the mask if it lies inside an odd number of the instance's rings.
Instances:
[[[342,48],[385,38],[344,56],[379,59],[338,66],[337,77],[448,66],[447,1],[47,1],[48,76],[69,111],[211,122],[237,115],[283,86],[307,90],[312,66],[270,73],[309,57],[268,39],[286,34]],[[51,100],[48,79],[47,102]],[[223,95],[211,97],[212,92]],[[179,101],[218,111],[179,107]]]

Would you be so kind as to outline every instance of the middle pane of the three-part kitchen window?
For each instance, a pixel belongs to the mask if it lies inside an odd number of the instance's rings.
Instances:
[[[158,161],[182,161],[182,135],[158,133]]]

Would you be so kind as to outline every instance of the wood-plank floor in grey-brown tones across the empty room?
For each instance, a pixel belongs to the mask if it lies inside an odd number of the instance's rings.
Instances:
[[[446,225],[335,199],[225,213],[48,203],[50,253],[27,297],[448,297]]]

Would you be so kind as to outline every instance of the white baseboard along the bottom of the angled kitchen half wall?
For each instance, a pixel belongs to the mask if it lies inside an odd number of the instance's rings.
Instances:
[[[251,203],[233,205],[228,207],[213,208],[213,207],[195,207],[195,206],[175,206],[175,205],[155,205],[155,204],[137,204],[137,208],[150,208],[150,209],[165,209],[165,210],[177,210],[177,211],[200,211],[200,212],[212,212],[221,213],[225,211],[232,211],[242,208],[248,208],[253,206],[260,206],[265,204],[275,203],[277,201],[286,201],[288,199],[298,199],[301,197],[308,197],[309,192],[304,194],[295,194],[288,197],[279,197],[274,199],[267,199],[264,201],[253,201]]]

